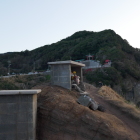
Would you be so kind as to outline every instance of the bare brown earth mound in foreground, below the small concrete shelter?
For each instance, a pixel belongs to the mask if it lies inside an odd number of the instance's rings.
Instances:
[[[122,121],[77,103],[78,92],[46,86],[38,95],[37,140],[135,140]]]

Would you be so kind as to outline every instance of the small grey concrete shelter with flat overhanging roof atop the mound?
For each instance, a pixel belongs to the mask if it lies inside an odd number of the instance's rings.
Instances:
[[[74,61],[48,62],[51,65],[51,83],[71,90],[71,72],[76,71],[83,81],[82,67],[85,64]]]

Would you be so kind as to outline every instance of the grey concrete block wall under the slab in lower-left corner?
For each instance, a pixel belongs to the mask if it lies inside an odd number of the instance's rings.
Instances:
[[[0,140],[35,140],[37,94],[0,96]]]

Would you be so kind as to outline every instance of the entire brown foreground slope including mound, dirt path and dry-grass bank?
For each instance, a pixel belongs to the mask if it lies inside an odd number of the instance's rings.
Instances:
[[[35,88],[42,89],[38,95],[37,140],[140,139],[140,111],[108,87],[98,93],[97,88],[86,84],[90,96],[106,108],[105,112],[78,104],[77,91],[51,85]]]

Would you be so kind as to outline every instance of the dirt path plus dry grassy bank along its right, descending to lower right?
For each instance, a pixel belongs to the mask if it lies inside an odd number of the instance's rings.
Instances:
[[[106,113],[120,119],[135,139],[140,140],[140,111],[125,103],[125,100],[110,88],[102,87],[99,90],[90,84],[85,84],[86,90],[91,93],[90,96],[106,108]]]

